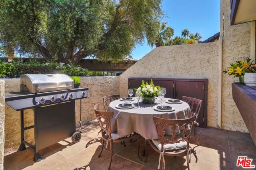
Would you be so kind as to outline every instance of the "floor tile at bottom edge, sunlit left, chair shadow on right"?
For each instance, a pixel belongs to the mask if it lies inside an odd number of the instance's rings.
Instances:
[[[71,158],[69,158],[69,160],[80,166],[81,169],[95,169],[96,167],[100,166],[100,164],[108,160],[108,158],[110,158],[110,152],[104,149],[102,151],[100,158],[98,158],[99,153],[100,148],[92,146],[72,156]]]

